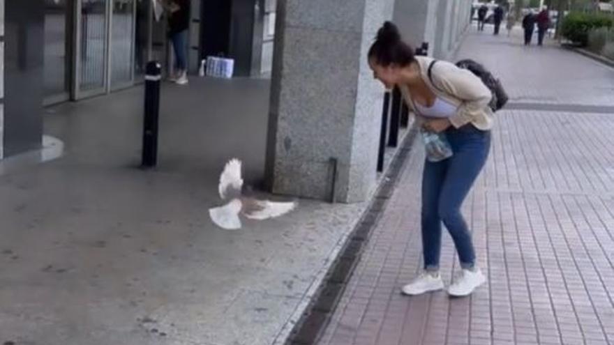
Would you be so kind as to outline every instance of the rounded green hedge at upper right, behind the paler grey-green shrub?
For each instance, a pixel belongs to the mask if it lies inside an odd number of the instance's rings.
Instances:
[[[602,13],[569,13],[561,25],[564,38],[585,47],[588,44],[588,34],[592,29],[611,28],[614,19],[611,15]]]

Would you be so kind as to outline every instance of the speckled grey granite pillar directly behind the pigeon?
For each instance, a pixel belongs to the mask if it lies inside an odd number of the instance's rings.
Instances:
[[[267,142],[272,192],[368,199],[376,181],[384,89],[366,52],[394,0],[278,0]]]

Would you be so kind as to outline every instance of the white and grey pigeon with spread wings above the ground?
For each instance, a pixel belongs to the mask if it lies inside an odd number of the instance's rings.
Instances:
[[[241,229],[239,215],[252,220],[266,220],[284,215],[297,206],[296,202],[275,202],[246,197],[241,192],[242,188],[241,161],[234,158],[226,163],[218,187],[220,197],[228,202],[224,206],[209,209],[211,220],[218,227],[227,230]]]

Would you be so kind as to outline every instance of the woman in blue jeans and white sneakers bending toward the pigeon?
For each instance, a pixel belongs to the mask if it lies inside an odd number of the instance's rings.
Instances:
[[[435,63],[436,62],[436,63]],[[471,232],[461,204],[486,162],[491,147],[493,113],[491,91],[469,70],[454,63],[414,56],[391,22],[377,32],[368,51],[373,75],[387,89],[398,86],[417,125],[444,133],[453,155],[424,163],[422,176],[421,233],[424,271],[402,292],[417,295],[443,289],[439,273],[442,222],[448,229],[461,272],[448,288],[451,296],[467,296],[486,282],[477,267]]]

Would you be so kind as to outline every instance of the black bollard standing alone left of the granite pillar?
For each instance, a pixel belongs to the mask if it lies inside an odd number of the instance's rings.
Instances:
[[[162,79],[160,71],[160,63],[157,61],[147,63],[142,167],[155,167],[158,162],[158,113],[160,112],[160,79]]]

